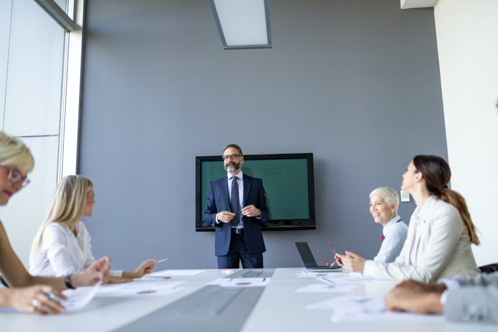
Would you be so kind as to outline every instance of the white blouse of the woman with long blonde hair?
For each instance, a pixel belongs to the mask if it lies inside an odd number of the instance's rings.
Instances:
[[[29,267],[33,276],[60,277],[80,273],[95,262],[90,244],[90,233],[83,221],[76,225],[78,236],[69,227],[56,222],[43,231],[42,241],[34,265]],[[109,275],[121,277],[123,271],[110,271]]]

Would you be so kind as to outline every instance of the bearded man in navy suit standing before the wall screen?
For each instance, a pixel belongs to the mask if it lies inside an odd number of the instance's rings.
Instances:
[[[228,145],[222,158],[227,176],[211,181],[204,211],[206,223],[216,228],[218,268],[238,269],[239,260],[245,269],[262,268],[261,223],[269,217],[263,181],[242,173],[238,145]]]

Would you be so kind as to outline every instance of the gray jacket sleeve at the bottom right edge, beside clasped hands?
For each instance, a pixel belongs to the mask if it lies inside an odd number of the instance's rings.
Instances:
[[[444,315],[449,321],[498,324],[498,287],[469,286],[451,290]]]

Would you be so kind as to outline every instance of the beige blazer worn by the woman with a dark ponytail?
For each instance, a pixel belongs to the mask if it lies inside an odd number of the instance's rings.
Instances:
[[[415,241],[417,211],[418,208],[411,216],[406,240],[396,260],[392,263],[366,261],[364,276],[429,283],[440,278],[479,274],[469,231],[457,208],[434,195],[430,196],[418,213],[421,233],[419,240]],[[410,260],[412,251],[415,254],[413,264]]]

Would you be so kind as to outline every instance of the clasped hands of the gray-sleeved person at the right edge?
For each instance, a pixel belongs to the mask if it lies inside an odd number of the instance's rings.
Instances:
[[[442,291],[427,292],[408,287],[395,287],[385,297],[385,307],[390,311],[407,311],[417,314],[441,314]]]

